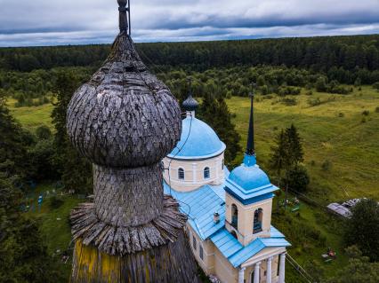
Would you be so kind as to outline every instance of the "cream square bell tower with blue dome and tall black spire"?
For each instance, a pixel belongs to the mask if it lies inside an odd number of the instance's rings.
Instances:
[[[257,237],[270,237],[273,192],[278,190],[256,163],[254,148],[254,86],[246,152],[243,163],[226,179],[226,228],[247,245]]]

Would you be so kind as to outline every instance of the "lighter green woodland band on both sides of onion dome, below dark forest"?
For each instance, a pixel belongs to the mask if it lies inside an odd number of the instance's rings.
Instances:
[[[80,82],[87,81],[95,67],[58,67],[49,70],[34,70],[29,73],[0,71],[0,92],[17,100],[14,106],[38,106],[52,101],[54,85],[59,74],[72,72]],[[181,101],[186,98],[188,77],[192,77],[192,88],[197,97],[230,98],[232,96],[247,96],[250,83],[257,84],[257,90],[262,95],[276,93],[279,96],[300,94],[301,88],[307,91],[317,90],[338,94],[348,94],[351,86],[340,83],[340,76],[345,71],[329,70],[326,74],[295,67],[219,67],[207,69],[204,72],[173,69],[165,73],[157,73]],[[369,82],[379,82],[379,71],[363,72],[351,77],[356,87]],[[378,89],[379,84],[373,86]]]

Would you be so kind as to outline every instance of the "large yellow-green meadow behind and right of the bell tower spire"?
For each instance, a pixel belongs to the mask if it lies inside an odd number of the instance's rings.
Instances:
[[[302,137],[313,198],[324,203],[356,197],[379,200],[379,113],[375,112],[379,93],[363,87],[350,95],[314,93],[294,98],[296,106],[286,106],[276,96],[256,99],[256,153],[261,166],[267,169],[270,146],[279,130],[294,123]],[[307,101],[314,98],[326,102],[309,106]],[[228,105],[236,114],[234,122],[245,148],[249,100],[234,97]],[[362,114],[365,110],[367,116]],[[321,168],[325,161],[331,164],[327,171]]]

